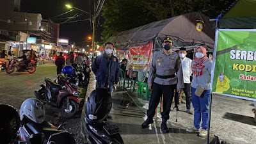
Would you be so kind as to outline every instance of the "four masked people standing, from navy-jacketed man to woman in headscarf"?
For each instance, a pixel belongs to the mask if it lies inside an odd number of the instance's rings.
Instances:
[[[166,122],[170,118],[174,92],[184,92],[186,95],[186,112],[192,114],[190,111],[191,102],[195,109],[194,125],[187,131],[199,132],[200,136],[207,136],[212,60],[207,57],[205,47],[196,48],[195,60],[192,61],[186,57],[188,54],[186,49],[181,48],[177,53],[173,51],[172,46],[172,40],[168,37],[165,38],[163,51],[156,52],[152,58],[148,76],[147,74],[140,74],[143,78],[141,81],[147,82],[148,89],[152,91],[147,110],[147,120],[141,124],[141,127],[144,129],[154,122],[153,117],[163,95],[161,130],[169,132]],[[112,53],[113,44],[108,42],[105,44],[104,54],[98,56],[92,65],[97,86],[109,88],[110,92],[119,81],[119,68],[125,70],[127,64],[127,60],[123,60],[120,67],[117,58]],[[125,72],[125,74],[127,73]],[[192,82],[190,81],[191,74],[193,74]],[[129,76],[129,74],[127,75]],[[201,121],[202,125],[200,125]]]

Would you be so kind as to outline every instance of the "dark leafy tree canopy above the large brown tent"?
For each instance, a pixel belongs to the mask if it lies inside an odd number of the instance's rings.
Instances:
[[[216,18],[233,1],[228,0],[108,0],[103,7],[102,40],[120,31],[189,12]]]

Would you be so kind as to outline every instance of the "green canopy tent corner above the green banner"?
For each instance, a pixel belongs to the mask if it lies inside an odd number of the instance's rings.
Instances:
[[[237,0],[218,16],[220,28],[256,28],[256,0]]]

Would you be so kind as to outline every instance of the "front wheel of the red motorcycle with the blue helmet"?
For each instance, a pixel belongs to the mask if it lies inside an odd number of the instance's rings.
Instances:
[[[60,114],[63,118],[72,118],[74,115],[76,115],[76,112],[78,110],[78,104],[75,100],[69,99],[69,108],[71,111],[67,111],[67,99],[63,101],[63,104],[61,104],[60,107]],[[66,111],[65,111],[66,110]]]

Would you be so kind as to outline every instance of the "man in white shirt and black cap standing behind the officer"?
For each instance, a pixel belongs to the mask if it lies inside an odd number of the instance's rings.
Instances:
[[[187,58],[188,52],[186,51],[186,48],[182,47],[179,51],[179,56],[181,60],[182,65],[182,74],[183,74],[183,81],[184,81],[184,93],[186,95],[186,113],[192,114],[190,111],[190,105],[191,105],[191,87],[190,87],[190,76],[192,74],[192,67],[191,63],[192,60],[190,58]]]

